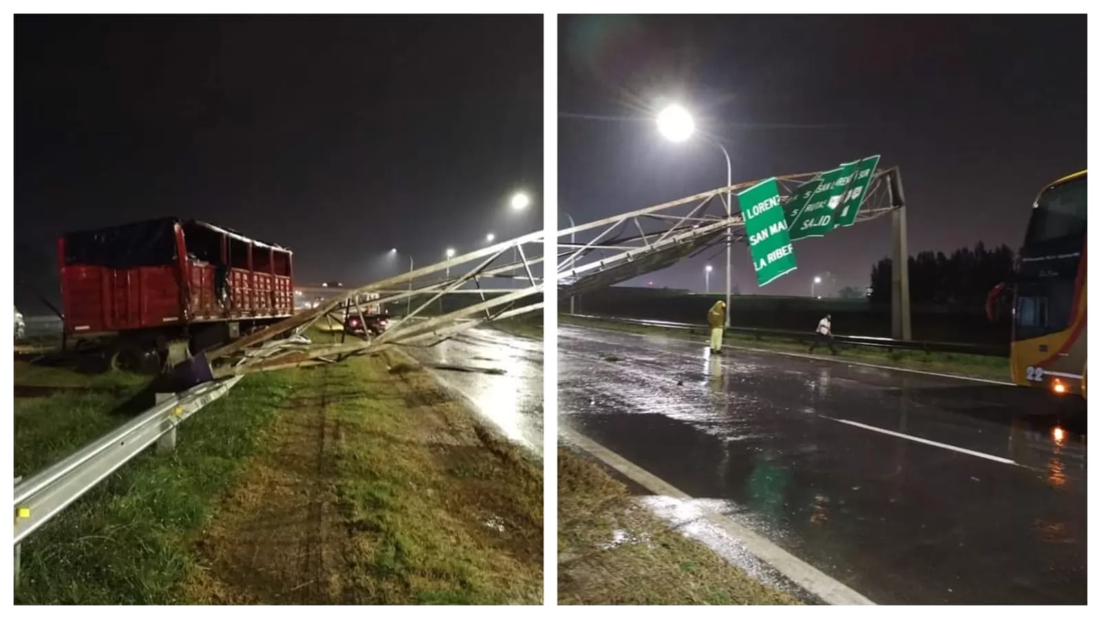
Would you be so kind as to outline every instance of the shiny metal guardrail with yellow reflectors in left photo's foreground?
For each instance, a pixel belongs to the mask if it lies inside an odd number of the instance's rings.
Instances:
[[[208,382],[179,393],[157,393],[156,404],[124,425],[26,479],[15,480],[15,580],[19,544],[108,475],[156,443],[157,452],[176,446],[176,427],[226,394],[241,377]]]

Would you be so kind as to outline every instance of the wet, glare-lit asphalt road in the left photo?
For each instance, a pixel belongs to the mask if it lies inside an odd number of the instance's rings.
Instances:
[[[543,455],[543,343],[476,327],[430,348],[410,349],[422,363],[504,370],[489,374],[433,370],[505,436]]]

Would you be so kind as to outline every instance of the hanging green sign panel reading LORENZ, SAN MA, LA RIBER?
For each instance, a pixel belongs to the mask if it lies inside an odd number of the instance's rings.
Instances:
[[[753,257],[757,285],[795,270],[795,251],[784,220],[780,186],[775,178],[762,181],[738,193],[738,208],[745,221],[745,237]]]

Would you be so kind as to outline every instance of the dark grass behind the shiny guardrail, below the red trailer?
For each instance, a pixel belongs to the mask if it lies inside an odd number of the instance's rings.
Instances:
[[[28,476],[126,423],[149,378],[127,372],[84,374],[15,361],[15,475]],[[146,406],[152,406],[149,395]]]

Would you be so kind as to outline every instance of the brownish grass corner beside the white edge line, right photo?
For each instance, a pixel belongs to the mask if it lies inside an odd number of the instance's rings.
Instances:
[[[799,602],[676,532],[596,463],[559,448],[558,604]]]

